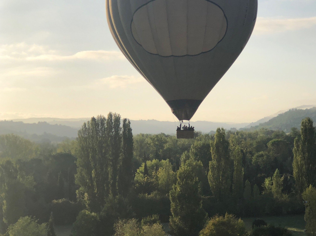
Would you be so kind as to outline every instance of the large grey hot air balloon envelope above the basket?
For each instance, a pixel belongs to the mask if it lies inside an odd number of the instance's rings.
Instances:
[[[116,43],[180,120],[245,47],[258,0],[106,0]]]

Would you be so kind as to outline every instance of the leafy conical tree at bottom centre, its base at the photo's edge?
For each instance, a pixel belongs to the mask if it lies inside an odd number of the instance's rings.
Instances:
[[[197,236],[206,222],[202,208],[201,189],[193,165],[182,163],[177,171],[177,183],[170,191],[170,230],[175,236]]]

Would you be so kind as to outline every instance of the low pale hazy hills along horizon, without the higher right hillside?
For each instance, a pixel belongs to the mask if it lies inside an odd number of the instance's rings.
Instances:
[[[13,121],[0,121],[0,134],[15,133],[25,138],[30,135],[46,135],[52,134],[58,137],[77,137],[77,132],[82,124],[88,121],[89,118],[80,119],[58,119],[58,118],[29,118],[19,119]],[[210,121],[196,121],[191,122],[196,131],[209,133],[216,130],[217,127],[225,129],[242,128],[249,123],[225,123],[225,122],[210,122]],[[179,126],[179,122],[171,121],[156,121],[156,120],[131,120],[131,127],[133,134],[139,133],[166,133],[175,134],[175,130]],[[33,135],[34,136],[34,135]],[[29,138],[34,141],[32,138]],[[38,137],[36,140],[39,139]],[[56,139],[56,138],[55,138]]]

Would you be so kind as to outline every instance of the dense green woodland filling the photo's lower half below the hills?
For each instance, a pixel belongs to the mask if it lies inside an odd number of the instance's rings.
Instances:
[[[316,235],[310,118],[289,133],[195,136],[133,136],[116,113],[92,117],[58,145],[1,135],[0,234],[52,236],[53,224],[72,224],[72,236],[237,236],[248,235],[239,217],[305,212],[307,234]],[[273,226],[251,233],[265,231],[291,235]]]

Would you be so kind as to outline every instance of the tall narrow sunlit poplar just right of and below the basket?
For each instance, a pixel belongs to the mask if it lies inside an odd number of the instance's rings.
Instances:
[[[213,160],[209,162],[208,173],[210,188],[217,200],[225,198],[230,190],[231,161],[228,146],[225,130],[217,128],[214,142],[211,144]]]

